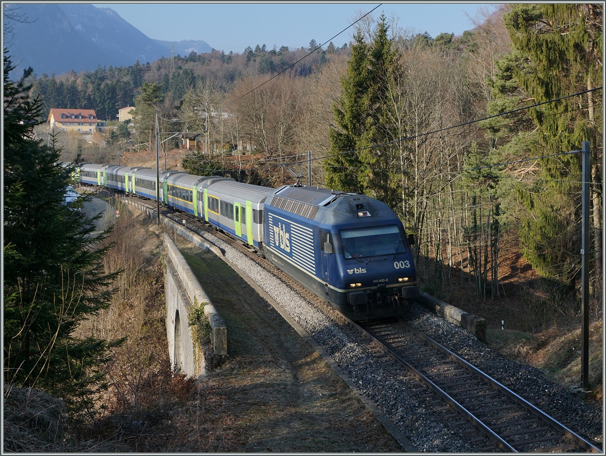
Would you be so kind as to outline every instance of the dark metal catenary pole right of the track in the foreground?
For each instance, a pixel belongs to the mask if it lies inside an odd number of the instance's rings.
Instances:
[[[581,386],[589,388],[589,141],[583,141],[581,222]]]

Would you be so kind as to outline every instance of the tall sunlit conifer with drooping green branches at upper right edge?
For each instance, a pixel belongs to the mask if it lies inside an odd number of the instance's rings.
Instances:
[[[517,108],[602,85],[602,10],[599,5],[520,4],[504,16],[514,50],[498,64],[492,81],[495,101],[488,113]],[[598,95],[599,94],[599,95]],[[506,138],[501,159],[519,159],[580,150],[592,144],[601,161],[601,92],[531,108],[510,116],[514,128],[487,122],[494,139]],[[579,107],[583,107],[579,109]],[[532,131],[532,133],[527,133]],[[523,144],[523,149],[514,144]],[[545,277],[565,286],[579,278],[581,158],[578,154],[541,159],[532,185],[516,186],[521,202],[520,238],[524,256]],[[598,173],[593,173],[596,176]],[[599,176],[598,176],[599,178]],[[596,189],[594,189],[596,190]],[[601,194],[599,195],[601,200]]]

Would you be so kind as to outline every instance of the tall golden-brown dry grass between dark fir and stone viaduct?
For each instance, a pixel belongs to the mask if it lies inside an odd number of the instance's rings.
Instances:
[[[126,337],[105,366],[109,388],[98,398],[101,417],[93,435],[114,435],[116,440],[139,440],[161,424],[170,406],[187,399],[193,380],[173,375],[164,328],[164,278],[158,236],[120,206],[113,233],[115,242],[105,256],[107,271],[119,271],[112,306],[90,322],[96,337]]]

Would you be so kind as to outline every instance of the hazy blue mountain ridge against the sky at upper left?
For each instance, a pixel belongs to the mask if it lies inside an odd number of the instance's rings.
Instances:
[[[63,74],[100,67],[128,67],[170,57],[170,41],[151,39],[112,8],[90,4],[9,4],[21,21],[10,21],[8,53],[21,72]],[[6,20],[6,19],[5,19]],[[5,44],[6,45],[6,44]],[[174,42],[175,55],[210,52],[205,41]]]

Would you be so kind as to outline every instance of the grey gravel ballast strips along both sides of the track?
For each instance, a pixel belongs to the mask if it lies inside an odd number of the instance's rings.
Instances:
[[[461,428],[440,411],[443,404],[432,404],[415,378],[404,368],[376,357],[358,332],[339,322],[335,312],[306,299],[290,285],[248,258],[229,243],[204,230],[195,230],[215,244],[225,258],[245,272],[258,286],[305,329],[347,372],[362,391],[395,425],[419,452],[479,452],[482,444],[470,443]],[[539,369],[507,359],[473,334],[431,314],[415,304],[408,323],[491,375],[544,412],[564,423],[582,437],[602,441],[602,409],[586,403],[568,389],[548,380]],[[425,397],[424,397],[425,396]],[[600,446],[600,445],[598,445]]]

